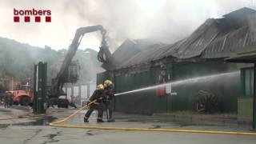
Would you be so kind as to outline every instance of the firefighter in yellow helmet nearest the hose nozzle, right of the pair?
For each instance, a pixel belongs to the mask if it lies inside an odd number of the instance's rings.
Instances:
[[[113,108],[112,101],[114,98],[114,84],[110,80],[104,82],[104,100],[103,103],[106,106],[106,118],[107,122],[114,122],[112,118]]]

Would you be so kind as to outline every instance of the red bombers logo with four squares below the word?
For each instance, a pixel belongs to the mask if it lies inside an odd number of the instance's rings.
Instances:
[[[14,9],[14,22],[51,22],[50,10],[16,10]]]

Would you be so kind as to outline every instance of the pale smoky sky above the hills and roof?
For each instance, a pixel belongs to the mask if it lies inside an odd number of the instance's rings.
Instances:
[[[113,52],[130,39],[150,38],[173,43],[186,38],[207,18],[256,0],[0,0],[0,37],[32,46],[67,49],[78,27],[102,25]],[[14,22],[16,10],[51,10],[52,22]],[[79,49],[98,51],[101,34],[86,34]]]

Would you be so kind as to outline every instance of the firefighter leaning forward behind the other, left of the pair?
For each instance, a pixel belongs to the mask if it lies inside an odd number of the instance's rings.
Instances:
[[[97,122],[104,122],[102,120],[102,116],[103,116],[103,103],[102,103],[102,99],[103,99],[103,97],[104,97],[104,86],[102,84],[99,84],[97,86],[97,90],[94,90],[94,94],[92,94],[92,96],[90,97],[90,102],[94,101],[95,99],[97,101],[90,105],[90,109],[87,110],[87,112],[85,114],[84,122],[89,122],[88,118],[90,118],[90,114],[94,110],[98,110]],[[90,102],[88,102],[88,103],[90,103]]]

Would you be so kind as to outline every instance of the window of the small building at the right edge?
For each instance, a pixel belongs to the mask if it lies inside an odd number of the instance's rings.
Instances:
[[[243,97],[253,97],[254,95],[254,69],[243,69],[242,70],[242,81],[243,81]]]

